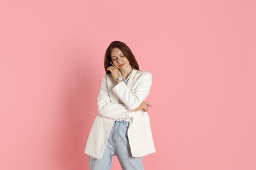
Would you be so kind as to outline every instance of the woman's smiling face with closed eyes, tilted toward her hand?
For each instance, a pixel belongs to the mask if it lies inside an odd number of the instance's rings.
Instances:
[[[112,63],[119,69],[125,71],[130,69],[131,65],[119,48],[113,48],[110,52]]]

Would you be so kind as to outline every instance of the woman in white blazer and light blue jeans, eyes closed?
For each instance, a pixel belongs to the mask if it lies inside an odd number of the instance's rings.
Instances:
[[[151,105],[145,101],[152,75],[139,71],[130,48],[120,41],[108,46],[104,67],[98,115],[85,148],[90,169],[110,169],[114,155],[122,169],[144,169],[142,157],[156,152],[147,114]]]

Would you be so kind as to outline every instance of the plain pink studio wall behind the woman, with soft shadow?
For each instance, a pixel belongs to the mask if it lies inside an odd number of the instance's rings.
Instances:
[[[150,71],[145,169],[256,169],[256,1],[0,1],[0,169],[89,169],[111,41]],[[120,169],[117,159],[112,169]]]

